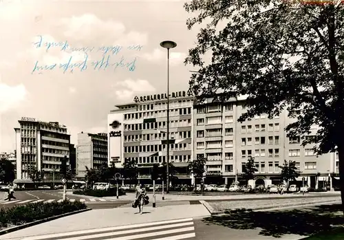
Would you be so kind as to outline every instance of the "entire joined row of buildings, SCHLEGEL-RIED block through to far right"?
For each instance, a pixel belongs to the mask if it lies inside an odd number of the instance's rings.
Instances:
[[[316,156],[314,145],[303,147],[301,139],[287,138],[284,129],[293,121],[287,111],[273,119],[263,114],[238,122],[246,112],[244,100],[199,102],[185,92],[171,94],[169,162],[177,169],[177,179],[172,182],[191,184],[187,166],[198,157],[207,160],[205,184],[242,182],[243,166],[252,156],[258,170],[250,181],[253,187],[279,184],[279,166],[284,160],[295,161],[301,171],[297,184],[304,180],[313,188],[332,186],[338,173],[335,153]],[[155,95],[116,105],[108,115],[109,164],[122,167],[126,160],[134,160],[140,181],[149,182],[152,165],[166,161],[166,103],[166,96]],[[312,129],[315,132],[316,128]],[[312,133],[307,138],[312,138]]]

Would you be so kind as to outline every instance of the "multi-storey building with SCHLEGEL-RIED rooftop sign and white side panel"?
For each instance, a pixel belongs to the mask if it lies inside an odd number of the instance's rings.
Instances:
[[[116,105],[108,115],[109,164],[121,167],[135,160],[141,183],[151,177],[153,164],[166,159],[166,94],[135,97],[129,104]],[[175,168],[173,182],[191,183],[187,166],[193,159],[193,97],[185,91],[172,93],[169,104],[169,162]]]

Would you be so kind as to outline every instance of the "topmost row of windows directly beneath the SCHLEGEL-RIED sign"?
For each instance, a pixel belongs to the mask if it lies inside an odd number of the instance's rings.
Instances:
[[[170,109],[170,116],[190,115],[191,107],[184,107],[179,109]],[[126,113],[125,120],[138,120],[142,118],[161,118],[167,116],[167,110],[161,111],[144,111],[142,113]]]

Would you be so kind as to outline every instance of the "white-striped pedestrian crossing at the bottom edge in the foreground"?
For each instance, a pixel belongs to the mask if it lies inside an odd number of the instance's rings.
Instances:
[[[189,240],[195,239],[195,226],[192,218],[138,223],[127,226],[78,230],[54,234],[23,237],[21,240]]]

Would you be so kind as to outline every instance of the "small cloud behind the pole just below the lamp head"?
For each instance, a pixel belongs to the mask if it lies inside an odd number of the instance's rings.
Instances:
[[[163,60],[167,58],[166,51],[156,48],[151,53],[144,53],[141,55],[141,58],[153,63],[165,63]],[[184,62],[186,54],[182,52],[171,52],[170,53],[170,64],[171,65],[180,65]],[[167,60],[166,60],[167,61]]]

